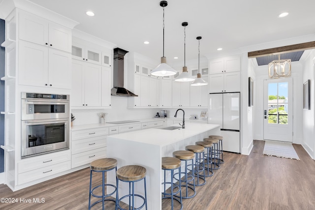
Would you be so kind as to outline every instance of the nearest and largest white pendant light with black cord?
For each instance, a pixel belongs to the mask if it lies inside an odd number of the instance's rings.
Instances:
[[[163,7],[163,57],[161,57],[161,64],[159,64],[153,71],[151,75],[154,76],[171,76],[177,73],[175,69],[166,64],[166,57],[164,57],[164,7],[167,6],[167,1],[162,0],[159,5]]]

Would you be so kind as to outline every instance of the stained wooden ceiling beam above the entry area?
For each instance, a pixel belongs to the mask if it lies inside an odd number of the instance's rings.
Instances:
[[[265,50],[257,50],[248,53],[248,58],[257,58],[263,56],[278,55],[283,53],[297,52],[315,48],[315,41],[301,44],[293,44],[284,47],[275,47]]]

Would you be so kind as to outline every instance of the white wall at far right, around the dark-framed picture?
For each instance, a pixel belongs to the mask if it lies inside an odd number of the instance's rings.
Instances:
[[[315,50],[312,50],[303,65],[303,81],[305,83],[307,80],[311,80],[311,110],[302,110],[303,113],[303,122],[302,122],[302,130],[303,130],[303,139],[302,146],[309,153],[309,155],[314,159],[315,157],[315,128],[314,128],[314,82],[315,82]],[[301,85],[302,86],[302,85]],[[301,95],[303,90],[301,92]],[[303,98],[302,98],[303,100]],[[302,101],[303,104],[303,101]]]

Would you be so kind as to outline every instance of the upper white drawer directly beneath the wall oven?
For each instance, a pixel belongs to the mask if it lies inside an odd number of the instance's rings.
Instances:
[[[30,159],[18,162],[18,173],[24,173],[41,169],[47,166],[55,165],[61,162],[69,161],[71,159],[70,151],[54,152],[50,154],[43,154],[36,157],[29,157]]]

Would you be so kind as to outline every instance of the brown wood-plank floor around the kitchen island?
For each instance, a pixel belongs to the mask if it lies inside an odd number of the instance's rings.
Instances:
[[[249,156],[224,152],[221,169],[207,178],[205,185],[196,187],[194,198],[183,200],[184,210],[314,210],[315,161],[302,146],[293,146],[300,161],[263,155],[264,141],[254,141]],[[101,180],[97,176],[95,180]],[[0,203],[0,209],[88,209],[89,181],[90,169],[86,168],[16,192],[0,184],[0,198],[18,200]],[[22,203],[23,198],[44,198],[45,202]],[[163,201],[163,207],[168,202]],[[100,210],[101,205],[92,209]],[[114,210],[113,202],[106,204],[105,209]]]

